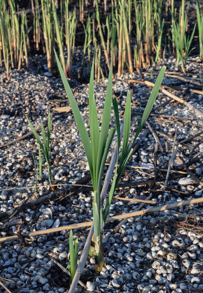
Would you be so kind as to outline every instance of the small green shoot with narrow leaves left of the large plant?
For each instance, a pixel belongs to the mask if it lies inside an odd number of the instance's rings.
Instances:
[[[26,116],[26,118],[28,120],[28,123],[30,125],[30,128],[31,128],[35,138],[37,139],[38,144],[40,145],[40,148],[42,149],[42,151],[43,151],[43,153],[45,155],[45,159],[46,159],[47,167],[48,167],[48,172],[49,172],[49,181],[50,181],[51,189],[54,190],[53,178],[52,178],[52,172],[51,172],[51,166],[50,166],[50,151],[51,151],[52,143],[54,141],[54,139],[52,139],[52,141],[50,143],[50,131],[51,131],[50,110],[49,110],[48,122],[47,122],[47,138],[46,138],[46,135],[45,135],[44,126],[43,126],[42,119],[41,119],[42,139],[43,139],[43,144],[44,145],[42,144],[42,142],[40,140],[40,137],[38,136],[37,132],[35,131],[32,123],[30,122],[30,120],[28,119],[27,116]]]

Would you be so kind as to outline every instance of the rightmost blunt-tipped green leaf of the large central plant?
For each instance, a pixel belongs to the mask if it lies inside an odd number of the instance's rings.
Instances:
[[[151,95],[150,95],[149,100],[147,102],[146,108],[145,108],[144,113],[142,115],[142,118],[141,118],[141,121],[139,123],[139,126],[138,126],[137,132],[135,134],[135,137],[134,137],[132,145],[134,144],[135,140],[137,139],[140,131],[142,130],[142,128],[143,128],[143,126],[144,126],[144,124],[145,124],[145,122],[146,122],[146,120],[147,120],[147,118],[148,118],[148,116],[149,116],[149,114],[151,112],[151,109],[152,109],[153,104],[154,104],[154,102],[156,100],[159,88],[161,86],[165,71],[166,71],[166,66],[163,66],[161,71],[159,72],[157,80],[156,80],[156,82],[154,84],[153,90],[151,92]]]

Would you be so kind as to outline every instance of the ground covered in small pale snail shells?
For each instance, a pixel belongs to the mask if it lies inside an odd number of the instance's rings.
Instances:
[[[25,114],[29,116],[34,127],[40,126],[40,118],[47,119],[48,107],[50,112],[54,108],[68,105],[67,96],[62,81],[58,77],[49,76],[43,66],[43,58],[35,56],[30,60],[30,71],[12,70],[10,80],[6,80],[5,72],[0,74],[0,221],[1,237],[17,234],[18,224],[21,233],[44,230],[46,228],[78,224],[92,219],[91,191],[73,190],[69,185],[78,182],[90,186],[89,171],[85,152],[82,147],[79,132],[71,112],[54,112],[52,120],[51,138],[54,138],[51,151],[51,168],[54,184],[63,191],[57,196],[52,195],[48,185],[48,171],[43,159],[42,181],[38,181],[37,192],[33,195],[35,185],[35,160],[38,160],[38,144],[30,135],[23,140],[12,143],[18,137],[30,131]],[[187,82],[170,76],[165,76],[163,84],[175,87],[200,89],[202,70],[198,57],[191,57],[187,63]],[[164,60],[162,65],[167,71],[178,71],[175,60]],[[78,68],[74,68],[77,72]],[[149,80],[150,69],[144,74]],[[177,73],[178,76],[180,74]],[[84,76],[88,76],[84,72]],[[155,75],[154,75],[155,76]],[[124,73],[113,80],[113,94],[118,99],[119,110],[124,110],[125,97],[130,86],[133,88],[132,97],[132,126],[131,137],[135,135],[142,112],[147,103],[151,89],[145,85],[133,83],[126,79],[139,79],[135,72],[132,76]],[[186,77],[185,77],[186,78]],[[140,80],[140,79],[139,79]],[[156,78],[152,78],[155,82]],[[196,83],[196,84],[195,84]],[[199,84],[198,84],[199,83]],[[88,84],[70,81],[70,86],[81,110],[84,122],[88,127]],[[95,82],[95,98],[98,108],[102,108],[107,80],[100,84]],[[169,90],[170,91],[170,90]],[[178,91],[173,92],[178,95]],[[180,97],[193,103],[203,111],[202,95],[184,90]],[[161,92],[155,102],[155,107],[166,102],[169,98]],[[101,118],[102,111],[98,110]],[[201,178],[202,164],[202,118],[194,111],[174,100],[152,112],[148,119],[156,132],[163,151],[155,151],[156,142],[145,126],[141,132],[141,143],[129,161],[124,171],[122,182],[128,183],[117,189],[116,198],[112,201],[110,216],[122,212],[132,212],[140,202],[150,197],[152,203],[145,203],[142,209],[181,202],[187,199],[202,197],[202,185],[192,180],[182,165],[181,158],[186,162],[190,158],[188,167]],[[112,125],[115,120],[112,115]],[[179,144],[175,164],[171,168],[166,190],[163,192],[164,180],[168,169],[175,131]],[[200,134],[199,134],[200,133]],[[198,134],[191,140],[181,143],[183,139]],[[41,135],[41,134],[40,134]],[[110,151],[110,156],[112,154]],[[142,168],[139,168],[142,166]],[[144,167],[156,167],[149,171]],[[107,171],[107,167],[105,167]],[[185,179],[187,182],[185,183]],[[148,181],[151,180],[151,181]],[[180,181],[182,180],[182,181]],[[181,184],[180,184],[181,183]],[[43,196],[47,195],[46,200]],[[50,198],[49,198],[50,197]],[[16,208],[27,200],[42,201],[37,205]],[[44,200],[43,200],[44,199]],[[128,199],[125,200],[125,199]],[[135,201],[137,199],[137,201]],[[11,216],[9,218],[9,216]],[[9,220],[5,223],[6,220]],[[88,287],[89,292],[135,292],[135,293],[171,293],[171,292],[202,292],[203,288],[203,212],[202,204],[178,207],[131,217],[125,224],[119,226],[119,221],[106,224],[104,229],[104,251],[106,267],[100,274],[94,272],[94,259],[87,261],[81,280]],[[83,250],[88,231],[86,227],[74,229],[74,238],[79,237],[79,256]],[[57,233],[42,234],[27,237],[27,247],[22,248],[18,239],[2,241],[0,239],[0,276],[15,283],[4,281],[4,285],[11,292],[28,293],[57,293],[68,292],[69,276],[53,261],[57,260],[65,268],[69,264],[69,230]],[[17,283],[17,285],[16,285]],[[20,287],[19,287],[20,286]],[[0,292],[6,292],[0,287]],[[82,292],[78,287],[77,292]],[[83,291],[84,292],[84,291]]]

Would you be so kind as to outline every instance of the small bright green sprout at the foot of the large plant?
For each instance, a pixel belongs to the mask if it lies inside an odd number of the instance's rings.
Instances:
[[[70,250],[70,265],[67,266],[71,274],[71,281],[74,278],[76,268],[77,268],[77,261],[78,261],[78,237],[76,237],[73,247],[73,231],[70,231],[69,236],[69,250]]]

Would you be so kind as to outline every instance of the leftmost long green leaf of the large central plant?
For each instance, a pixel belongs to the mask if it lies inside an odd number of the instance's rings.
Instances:
[[[71,105],[71,109],[73,111],[73,115],[74,115],[78,130],[79,130],[82,142],[83,142],[83,146],[84,146],[85,153],[86,153],[86,156],[87,156],[88,164],[89,164],[89,167],[90,167],[90,173],[91,173],[91,176],[93,178],[91,142],[89,140],[88,133],[87,133],[85,124],[83,122],[83,118],[81,116],[80,110],[79,110],[78,105],[76,103],[76,100],[75,100],[75,98],[73,96],[73,93],[71,91],[69,83],[68,83],[68,81],[66,79],[64,71],[63,71],[63,69],[61,67],[61,64],[59,62],[59,58],[58,58],[58,56],[56,54],[55,49],[54,49],[54,54],[56,56],[57,65],[59,67],[59,72],[61,74],[61,78],[62,78],[62,81],[63,81],[63,84],[64,84],[64,88],[65,88],[66,94],[68,96],[68,99],[69,99],[69,102],[70,102],[70,105]]]

